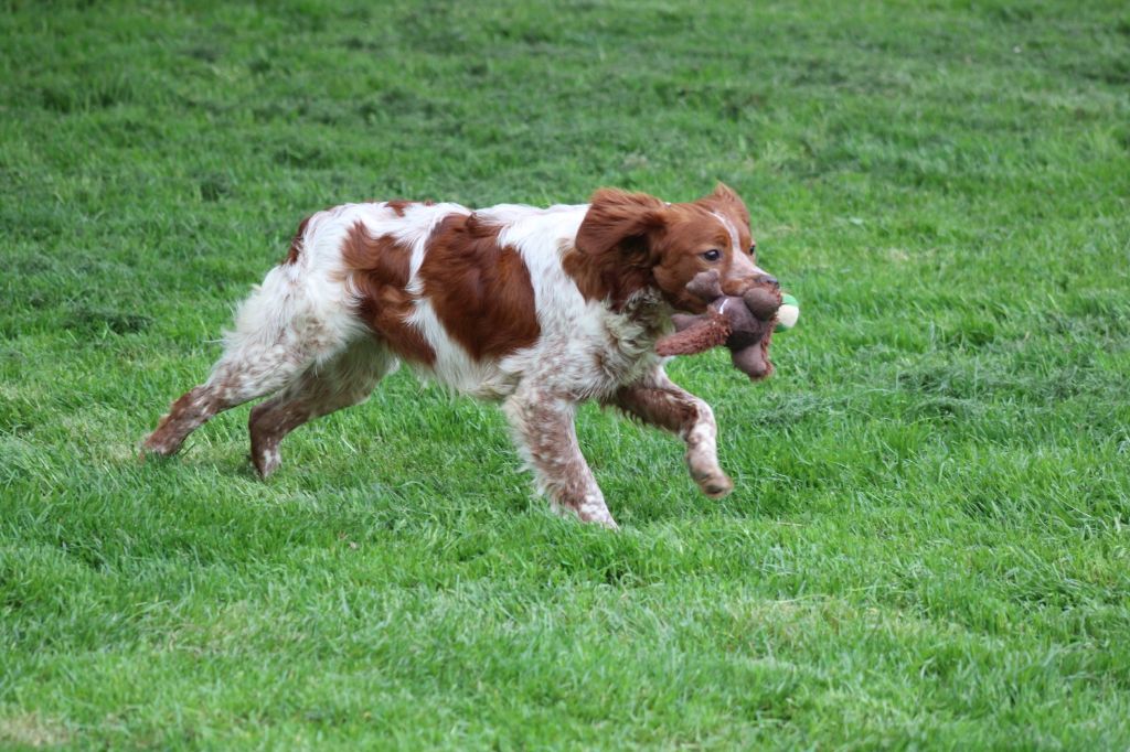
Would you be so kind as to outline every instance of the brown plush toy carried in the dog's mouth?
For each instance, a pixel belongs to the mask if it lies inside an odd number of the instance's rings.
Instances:
[[[661,356],[694,355],[724,344],[730,350],[733,367],[751,381],[773,373],[770,341],[781,307],[781,291],[775,287],[757,286],[738,297],[723,295],[716,271],[702,272],[687,285],[687,290],[710,300],[706,313],[675,314],[675,334],[655,343]]]

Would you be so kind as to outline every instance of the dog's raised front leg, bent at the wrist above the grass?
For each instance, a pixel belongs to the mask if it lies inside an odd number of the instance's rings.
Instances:
[[[663,370],[620,387],[610,403],[645,423],[676,434],[687,444],[690,476],[712,499],[733,490],[718,463],[718,425],[710,405],[678,386]]]

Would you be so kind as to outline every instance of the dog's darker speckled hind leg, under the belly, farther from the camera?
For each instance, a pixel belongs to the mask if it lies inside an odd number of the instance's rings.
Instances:
[[[303,423],[364,402],[399,361],[388,346],[363,338],[329,362],[313,366],[279,394],[255,405],[247,420],[251,461],[262,478],[278,467],[279,443]]]

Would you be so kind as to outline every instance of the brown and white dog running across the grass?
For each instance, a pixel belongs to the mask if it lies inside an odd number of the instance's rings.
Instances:
[[[754,259],[749,212],[729,187],[689,203],[603,189],[592,202],[350,203],[308,217],[287,257],[240,307],[211,376],[173,403],[144,449],[174,454],[216,413],[251,411],[264,478],[279,441],[364,401],[401,360],[454,390],[501,401],[539,490],[556,508],[616,526],[577,446],[574,413],[598,400],[678,434],[699,488],[733,488],[714,414],[655,355],[686,290],[718,270],[741,295],[775,286]]]

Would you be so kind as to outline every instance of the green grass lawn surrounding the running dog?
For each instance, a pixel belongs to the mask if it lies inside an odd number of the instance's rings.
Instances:
[[[0,6],[0,747],[1130,745],[1124,2]],[[137,461],[314,209],[716,180],[803,307],[670,368],[723,501],[407,371]]]

